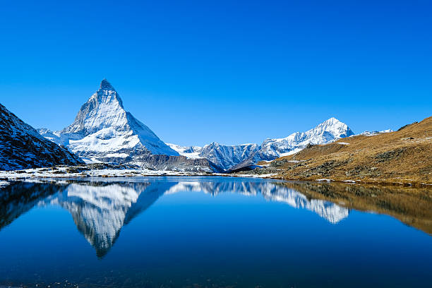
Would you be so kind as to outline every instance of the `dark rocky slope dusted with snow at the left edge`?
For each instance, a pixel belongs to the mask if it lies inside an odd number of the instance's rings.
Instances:
[[[0,104],[0,170],[76,164],[83,162]]]

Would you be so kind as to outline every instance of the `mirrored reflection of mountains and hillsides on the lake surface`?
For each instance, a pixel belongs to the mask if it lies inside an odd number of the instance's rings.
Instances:
[[[315,212],[332,224],[348,217],[350,209],[370,210],[392,215],[429,234],[432,231],[431,193],[426,189],[407,192],[402,188],[342,184],[174,177],[170,181],[144,178],[15,182],[0,190],[0,229],[35,205],[59,205],[71,213],[76,227],[101,258],[112,248],[125,224],[164,194],[184,191],[212,196],[262,195],[269,201]]]

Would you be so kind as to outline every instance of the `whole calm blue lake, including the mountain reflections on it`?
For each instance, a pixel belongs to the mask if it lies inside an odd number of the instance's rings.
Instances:
[[[0,287],[432,287],[432,191],[230,177],[0,189]]]

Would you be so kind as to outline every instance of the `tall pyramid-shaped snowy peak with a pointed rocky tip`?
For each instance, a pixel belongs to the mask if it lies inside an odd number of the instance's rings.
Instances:
[[[83,104],[71,125],[61,131],[39,131],[88,162],[139,164],[143,155],[179,155],[126,112],[119,93],[107,79]]]

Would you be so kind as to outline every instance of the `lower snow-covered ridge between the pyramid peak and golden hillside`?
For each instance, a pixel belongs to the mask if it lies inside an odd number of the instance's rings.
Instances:
[[[183,147],[175,144],[167,144],[172,149],[189,158],[205,158],[222,167],[225,170],[240,169],[262,160],[270,161],[284,155],[291,155],[304,149],[307,145],[330,143],[339,138],[354,135],[347,124],[330,118],[315,128],[306,132],[292,133],[286,138],[267,139],[261,145],[222,145],[211,143],[204,147]]]

